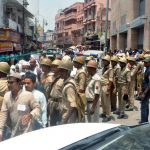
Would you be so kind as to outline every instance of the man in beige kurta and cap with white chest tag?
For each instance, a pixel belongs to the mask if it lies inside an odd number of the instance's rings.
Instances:
[[[8,92],[0,112],[0,140],[5,135],[4,127],[8,120],[11,137],[33,131],[32,121],[39,117],[39,104],[31,92],[23,91],[21,76],[13,73],[8,76]]]

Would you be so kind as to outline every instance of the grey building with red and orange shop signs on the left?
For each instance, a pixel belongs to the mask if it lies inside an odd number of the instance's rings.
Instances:
[[[25,41],[32,39],[34,25],[29,20],[32,17],[20,1],[0,0],[0,53],[21,51]]]

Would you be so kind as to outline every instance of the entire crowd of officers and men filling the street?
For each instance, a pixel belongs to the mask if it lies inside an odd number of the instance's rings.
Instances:
[[[150,51],[138,59],[114,51],[97,61],[66,51],[54,60],[41,55],[12,66],[0,62],[0,141],[48,126],[100,117],[109,122],[112,114],[127,119],[135,99],[141,100],[140,123],[148,122],[149,98]]]

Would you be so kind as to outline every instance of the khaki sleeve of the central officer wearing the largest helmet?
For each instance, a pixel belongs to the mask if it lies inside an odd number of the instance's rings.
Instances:
[[[66,90],[67,100],[70,102],[71,107],[77,107],[76,103],[76,92],[73,87],[68,87]]]

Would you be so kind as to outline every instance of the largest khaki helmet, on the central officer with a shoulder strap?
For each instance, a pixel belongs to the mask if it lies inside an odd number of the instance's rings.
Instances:
[[[60,65],[58,66],[59,69],[65,69],[68,71],[71,71],[73,69],[73,63],[69,60],[62,61]]]

